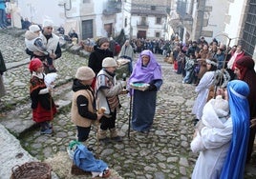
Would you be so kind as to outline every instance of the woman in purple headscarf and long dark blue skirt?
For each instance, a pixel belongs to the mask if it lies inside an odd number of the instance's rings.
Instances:
[[[132,89],[133,100],[132,128],[149,132],[154,120],[157,91],[162,84],[161,68],[151,50],[143,50],[129,78],[128,84],[146,83],[148,89]]]

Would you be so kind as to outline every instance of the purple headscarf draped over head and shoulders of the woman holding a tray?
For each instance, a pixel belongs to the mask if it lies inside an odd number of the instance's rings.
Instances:
[[[142,66],[142,56],[148,55],[150,57],[147,67]],[[139,60],[133,70],[130,78],[129,84],[135,82],[150,83],[153,80],[161,80],[161,69],[157,62],[157,59],[151,50],[143,50],[139,55]]]

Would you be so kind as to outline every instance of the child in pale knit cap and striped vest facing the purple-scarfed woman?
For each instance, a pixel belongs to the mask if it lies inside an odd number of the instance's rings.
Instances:
[[[104,116],[100,120],[101,125],[97,132],[97,138],[101,141],[109,139],[107,137],[108,129],[112,140],[117,142],[122,140],[117,134],[116,120],[117,110],[120,108],[118,94],[124,91],[126,82],[117,83],[116,69],[116,60],[112,57],[106,57],[102,62],[102,70],[96,76],[96,106],[97,109],[101,107],[106,109]]]

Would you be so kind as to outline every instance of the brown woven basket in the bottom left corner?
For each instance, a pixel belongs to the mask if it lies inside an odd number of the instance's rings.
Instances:
[[[42,162],[27,162],[11,169],[11,179],[51,179],[51,167]]]

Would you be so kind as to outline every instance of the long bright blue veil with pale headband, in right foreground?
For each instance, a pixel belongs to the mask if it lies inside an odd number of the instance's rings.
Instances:
[[[224,161],[221,179],[242,179],[249,136],[248,85],[241,80],[227,84],[228,102],[233,123],[230,148]]]

